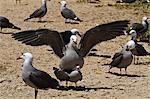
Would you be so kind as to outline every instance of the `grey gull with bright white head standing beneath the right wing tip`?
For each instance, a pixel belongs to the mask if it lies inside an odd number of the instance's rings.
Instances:
[[[113,67],[120,68],[120,74],[121,74],[121,69],[125,68],[125,73],[127,74],[127,67],[132,63],[133,60],[133,55],[131,52],[131,49],[135,48],[135,42],[132,40],[127,42],[121,52],[116,53],[113,58],[112,62],[110,63],[110,69]]]

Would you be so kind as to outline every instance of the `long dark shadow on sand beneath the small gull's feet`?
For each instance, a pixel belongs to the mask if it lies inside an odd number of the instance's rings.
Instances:
[[[65,86],[60,86],[58,88],[58,90],[63,90],[63,91],[68,91],[68,90],[74,90],[74,91],[90,91],[90,90],[100,90],[100,89],[112,89],[109,87],[91,87],[91,88],[87,88],[87,87],[83,87],[83,86],[69,86],[69,87],[65,87]]]

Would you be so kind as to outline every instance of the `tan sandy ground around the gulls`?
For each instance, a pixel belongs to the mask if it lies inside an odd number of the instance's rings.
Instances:
[[[150,18],[149,9],[117,8],[108,6],[115,0],[101,0],[99,4],[77,3],[76,0],[67,0],[68,6],[84,20],[80,24],[65,24],[59,12],[59,0],[47,2],[48,13],[43,18],[44,23],[24,22],[36,8],[40,7],[40,0],[21,0],[21,4],[15,4],[15,0],[0,0],[0,15],[6,16],[12,23],[22,30],[50,28],[58,31],[77,28],[84,33],[86,30],[106,22],[114,20],[131,20],[140,22],[142,16]],[[35,2],[36,1],[36,2]],[[34,19],[36,20],[36,19]],[[32,20],[32,21],[34,21]],[[4,29],[0,34],[0,99],[33,99],[34,90],[26,86],[21,79],[21,64],[16,58],[22,52],[31,52],[34,56],[33,64],[36,68],[48,72],[52,77],[52,67],[58,66],[60,59],[47,46],[31,47],[15,41],[11,33],[12,29]],[[130,38],[126,36],[98,44],[97,55],[110,55],[121,49]],[[150,51],[150,46],[143,44]],[[112,74],[108,73],[110,58],[87,56],[82,68],[83,80],[78,82],[82,88],[71,90],[39,90],[38,99],[149,99],[150,98],[150,57],[140,57],[140,65],[131,64],[128,67],[127,76],[118,76],[119,69],[113,68]],[[124,73],[124,71],[123,71]],[[65,85],[65,83],[62,83]],[[70,86],[74,84],[69,83]],[[85,88],[84,88],[85,87]]]

